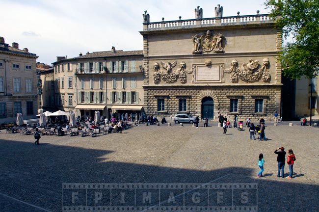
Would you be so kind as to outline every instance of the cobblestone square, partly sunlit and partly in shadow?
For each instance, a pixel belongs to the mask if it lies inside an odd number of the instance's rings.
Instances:
[[[209,182],[258,184],[259,212],[318,211],[319,128],[266,123],[268,140],[259,141],[249,139],[247,128],[223,135],[213,122],[198,129],[172,125],[141,124],[94,138],[44,135],[40,145],[33,135],[2,131],[0,211],[62,211],[62,183]],[[291,180],[276,177],[274,151],[280,146],[296,156]],[[266,161],[262,178],[260,153]]]

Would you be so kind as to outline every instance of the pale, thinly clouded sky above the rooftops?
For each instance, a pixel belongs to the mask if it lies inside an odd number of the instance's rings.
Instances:
[[[150,22],[194,19],[194,9],[203,8],[203,18],[215,17],[217,4],[223,17],[266,14],[266,0],[1,0],[0,36],[5,43],[36,53],[38,62],[51,64],[56,56],[79,53],[142,50],[142,14]]]

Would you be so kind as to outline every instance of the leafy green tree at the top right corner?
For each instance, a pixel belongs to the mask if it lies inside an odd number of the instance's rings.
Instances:
[[[285,43],[279,59],[284,76],[309,79],[319,70],[319,0],[266,0],[270,17],[283,29]]]

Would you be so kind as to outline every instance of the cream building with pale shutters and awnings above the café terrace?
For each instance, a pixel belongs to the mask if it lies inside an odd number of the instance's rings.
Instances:
[[[93,117],[143,110],[142,51],[86,53],[57,57],[54,65],[55,105],[77,116]]]

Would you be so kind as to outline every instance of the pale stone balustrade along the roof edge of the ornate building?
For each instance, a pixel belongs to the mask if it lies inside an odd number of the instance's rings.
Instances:
[[[189,19],[177,21],[161,21],[153,23],[143,23],[143,31],[169,30],[179,28],[214,27],[230,25],[248,25],[260,23],[273,23],[268,14],[230,16],[218,18]]]

